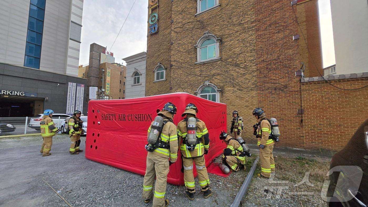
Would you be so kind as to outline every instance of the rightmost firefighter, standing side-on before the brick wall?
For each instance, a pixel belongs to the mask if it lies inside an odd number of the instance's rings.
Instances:
[[[257,138],[257,145],[259,146],[259,158],[261,160],[261,177],[269,178],[271,172],[275,172],[275,160],[273,159],[273,144],[271,139],[271,124],[266,118],[265,112],[262,108],[253,110],[253,115],[257,119],[258,124],[253,126],[254,135]]]

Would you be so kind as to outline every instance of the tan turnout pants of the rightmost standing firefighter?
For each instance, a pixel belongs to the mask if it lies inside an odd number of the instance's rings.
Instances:
[[[271,172],[275,172],[275,160],[273,159],[273,145],[259,148],[259,158],[261,159],[261,175],[270,177]]]

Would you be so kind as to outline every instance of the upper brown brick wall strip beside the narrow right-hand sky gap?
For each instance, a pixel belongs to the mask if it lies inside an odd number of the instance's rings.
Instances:
[[[304,63],[304,76],[321,76],[323,75],[323,64],[318,0],[298,0],[296,8],[300,25],[298,28],[298,35],[300,36],[299,58]]]

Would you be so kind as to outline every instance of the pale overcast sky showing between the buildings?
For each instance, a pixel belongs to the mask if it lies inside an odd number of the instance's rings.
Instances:
[[[85,0],[83,6],[82,37],[79,65],[88,64],[89,45],[93,42],[107,46],[114,53],[115,62],[123,63],[121,58],[146,51],[148,1],[137,0],[127,18],[135,0]],[[323,67],[335,64],[333,48],[330,0],[319,0],[321,20],[321,38]]]

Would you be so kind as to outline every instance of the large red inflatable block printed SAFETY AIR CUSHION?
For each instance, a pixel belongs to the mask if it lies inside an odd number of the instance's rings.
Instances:
[[[89,101],[86,158],[144,175],[147,130],[157,116],[156,110],[161,110],[169,101],[177,106],[177,114],[174,115],[175,125],[183,119],[181,114],[188,103],[194,103],[198,107],[198,118],[205,122],[209,131],[210,147],[209,153],[205,155],[208,166],[226,147],[219,139],[221,131],[226,131],[226,104],[188,93]],[[178,160],[170,166],[167,182],[184,185],[181,167],[179,152]]]

